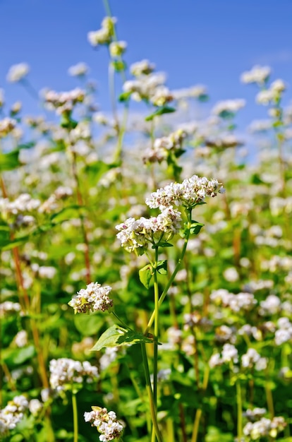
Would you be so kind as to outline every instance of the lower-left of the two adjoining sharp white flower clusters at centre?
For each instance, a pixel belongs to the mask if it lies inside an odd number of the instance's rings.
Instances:
[[[147,249],[148,243],[159,244],[169,241],[181,229],[181,213],[171,205],[165,207],[157,217],[128,218],[116,226],[121,246],[128,251],[138,247]]]

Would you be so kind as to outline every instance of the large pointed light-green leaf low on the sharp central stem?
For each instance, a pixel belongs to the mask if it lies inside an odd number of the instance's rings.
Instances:
[[[104,347],[117,347],[120,345],[140,344],[142,342],[153,342],[150,338],[135,333],[133,330],[126,330],[120,325],[112,325],[102,335],[95,345],[90,349],[92,352],[98,352]]]

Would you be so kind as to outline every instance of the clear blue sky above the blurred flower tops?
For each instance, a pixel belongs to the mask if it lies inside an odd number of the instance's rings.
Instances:
[[[118,38],[128,42],[128,64],[147,58],[168,74],[169,88],[207,85],[218,100],[245,97],[243,123],[264,117],[255,107],[253,86],[241,85],[242,71],[269,64],[272,78],[289,83],[292,73],[291,0],[110,0]],[[104,17],[102,0],[0,0],[0,87],[6,101],[39,109],[20,85],[6,83],[12,64],[26,61],[37,90],[78,85],[68,67],[85,61],[97,80],[99,103],[109,109],[107,51],[93,50],[87,32]],[[288,95],[290,95],[290,90]],[[210,104],[210,105],[211,105]]]

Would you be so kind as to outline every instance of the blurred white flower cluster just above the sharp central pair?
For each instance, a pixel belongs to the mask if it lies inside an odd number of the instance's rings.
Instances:
[[[162,162],[170,152],[181,152],[181,146],[186,136],[185,131],[178,129],[169,136],[157,138],[152,147],[147,149],[143,157],[144,162]]]

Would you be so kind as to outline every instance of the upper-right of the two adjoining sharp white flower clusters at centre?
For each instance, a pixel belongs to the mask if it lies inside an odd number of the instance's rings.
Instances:
[[[207,179],[193,175],[182,183],[171,183],[156,192],[151,193],[151,198],[146,199],[150,208],[164,208],[169,205],[183,205],[185,208],[194,208],[202,203],[206,196],[216,196],[217,192],[223,193],[224,189],[217,179]]]

